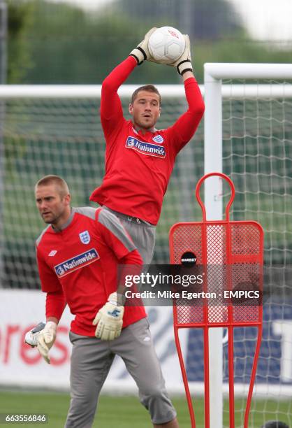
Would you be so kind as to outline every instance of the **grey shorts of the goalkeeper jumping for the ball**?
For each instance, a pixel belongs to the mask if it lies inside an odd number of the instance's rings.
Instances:
[[[131,217],[111,210],[103,206],[106,210],[119,217],[122,225],[131,236],[133,243],[136,245],[138,252],[143,258],[143,264],[150,264],[154,255],[155,247],[155,226],[136,217]]]

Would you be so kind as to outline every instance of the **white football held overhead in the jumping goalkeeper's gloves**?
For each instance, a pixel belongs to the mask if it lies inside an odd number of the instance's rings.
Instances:
[[[152,57],[165,64],[171,64],[179,59],[185,46],[184,36],[173,27],[156,29],[148,42],[148,49]]]

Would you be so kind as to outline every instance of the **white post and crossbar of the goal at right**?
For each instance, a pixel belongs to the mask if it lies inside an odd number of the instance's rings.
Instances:
[[[244,80],[244,84],[232,85],[231,80]],[[224,85],[224,80],[228,83]],[[250,80],[254,80],[253,84],[249,84]],[[256,80],[256,82],[255,82]],[[269,84],[267,80],[272,80]],[[275,80],[280,82],[275,83]],[[290,83],[289,83],[290,80]],[[204,172],[212,171],[226,172],[224,170],[224,99],[232,100],[265,100],[266,103],[280,100],[285,103],[285,100],[292,99],[292,64],[228,64],[228,63],[207,63],[204,68],[204,88],[205,88],[205,124],[204,124]],[[260,84],[263,82],[264,84]],[[288,82],[287,82],[288,81]],[[283,117],[280,119],[284,122]],[[291,120],[286,123],[291,130]],[[285,126],[285,124],[283,125]],[[259,129],[260,127],[258,127]],[[287,129],[288,131],[288,129]],[[272,138],[272,136],[271,136]],[[244,134],[242,134],[242,143]],[[268,143],[268,142],[267,142]],[[291,141],[283,141],[291,145]],[[288,151],[287,151],[288,153]],[[231,155],[231,153],[229,154]],[[256,156],[260,156],[256,153]],[[282,160],[284,160],[282,158]],[[281,162],[281,159],[279,159]],[[291,164],[290,164],[291,166]],[[256,173],[256,171],[254,171]],[[286,171],[286,180],[290,180],[291,186],[291,169]],[[290,174],[290,177],[289,177]],[[219,178],[212,178],[205,183],[205,207],[208,220],[220,220],[223,213],[222,190]],[[288,183],[283,184],[287,188]],[[235,186],[236,189],[236,186]],[[291,189],[291,187],[290,187]],[[254,189],[257,192],[258,189]],[[252,192],[252,189],[251,189]],[[287,197],[287,194],[284,195]],[[272,215],[272,212],[271,212]],[[288,211],[286,215],[291,213]],[[250,217],[251,219],[252,217]],[[243,219],[242,219],[243,220]],[[245,220],[245,219],[244,219]],[[256,219],[257,220],[257,219]],[[291,239],[291,229],[286,231],[286,236]],[[290,251],[291,256],[291,251]],[[290,257],[291,263],[291,257]],[[291,312],[291,307],[290,307]],[[291,312],[292,317],[292,312]],[[283,326],[284,324],[282,324]],[[210,427],[221,428],[223,426],[223,345],[222,345],[222,329],[211,329],[210,331]],[[290,355],[289,355],[290,354]],[[287,353],[286,353],[287,355]],[[289,361],[291,362],[292,347],[289,348]],[[292,379],[290,379],[291,381]],[[248,386],[248,385],[247,385]],[[279,396],[284,394],[285,385],[275,385],[275,390]],[[245,388],[247,394],[247,388]],[[286,397],[291,394],[291,387],[286,390]]]

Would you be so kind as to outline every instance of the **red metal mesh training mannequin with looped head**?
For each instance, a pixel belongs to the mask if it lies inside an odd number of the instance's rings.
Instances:
[[[206,211],[205,206],[200,199],[200,186],[206,178],[211,176],[219,176],[224,178],[228,182],[231,187],[231,198],[226,205],[225,211],[225,220],[206,220]],[[213,229],[219,228],[220,234],[224,235],[219,236],[219,242],[216,241],[216,236],[214,237],[214,243],[211,241],[213,245],[213,251],[219,253],[220,257],[224,258],[222,264],[226,264],[228,266],[235,266],[236,264],[244,264],[250,266],[256,266],[260,271],[263,268],[263,229],[261,224],[253,221],[230,221],[229,220],[229,211],[231,205],[233,203],[235,197],[235,187],[233,182],[228,176],[223,173],[209,173],[200,178],[198,184],[196,185],[196,199],[198,200],[198,204],[202,208],[203,213],[203,221],[202,222],[181,222],[174,224],[170,229],[169,234],[169,245],[170,245],[170,264],[179,264],[180,254],[184,252],[186,249],[194,250],[195,252],[199,252],[199,257],[197,264],[204,266],[205,272],[205,280],[204,283],[204,291],[208,290],[210,283],[212,282],[212,278],[207,276],[207,261],[208,255],[210,255],[210,250],[208,245],[210,245],[210,238],[207,241],[208,231],[212,231]],[[184,247],[184,237],[187,236],[187,240],[189,238],[189,234],[193,233],[194,238],[194,247],[191,248],[190,243],[186,242]],[[240,231],[245,231],[240,234]],[[249,236],[250,234],[251,236]],[[182,237],[181,237],[181,236]],[[236,238],[239,243],[236,242]],[[251,246],[253,248],[251,250],[246,250],[245,252],[240,248],[240,243],[242,241],[245,242],[248,247],[249,241],[251,241]],[[217,246],[216,246],[217,245]],[[219,247],[219,248],[217,248]],[[222,251],[222,248],[224,250]],[[235,248],[236,247],[236,248]],[[244,245],[243,245],[244,247]],[[231,276],[227,276],[228,280],[228,290],[232,290],[233,288],[233,280]],[[260,287],[262,289],[262,274],[260,276]],[[244,309],[245,308],[245,309]],[[235,327],[250,327],[254,326],[258,328],[258,338],[256,341],[256,350],[254,352],[254,364],[251,370],[251,379],[249,383],[249,392],[247,395],[247,404],[245,408],[244,414],[244,428],[248,428],[249,422],[249,410],[251,406],[251,397],[254,388],[254,381],[256,378],[256,366],[258,362],[258,355],[260,352],[261,346],[261,337],[262,337],[262,329],[263,329],[263,308],[261,305],[256,306],[256,309],[253,311],[247,311],[247,308],[243,306],[243,309],[236,309],[233,306],[232,302],[229,302],[227,305],[227,313],[226,319],[221,320],[210,320],[210,306],[208,304],[207,299],[203,304],[203,310],[200,307],[191,307],[191,315],[185,315],[186,310],[182,309],[182,306],[176,305],[175,302],[173,304],[173,320],[174,320],[174,334],[175,334],[175,345],[177,347],[177,354],[180,360],[180,367],[182,370],[182,378],[184,381],[184,388],[187,396],[187,403],[189,406],[189,414],[191,418],[191,427],[196,428],[194,408],[191,401],[191,394],[189,391],[189,384],[187,380],[187,372],[184,367],[184,359],[182,355],[182,349],[180,347],[180,339],[178,334],[178,329],[180,328],[202,328],[203,329],[203,338],[204,338],[204,383],[205,383],[205,428],[210,428],[210,380],[209,380],[209,329],[211,327],[226,327],[228,329],[228,374],[229,374],[229,426],[231,428],[235,428],[235,414],[234,414],[234,367],[233,367],[233,331]],[[223,309],[222,309],[223,311]],[[225,308],[226,311],[226,308]],[[245,313],[245,312],[246,313]],[[250,313],[251,311],[251,313]],[[243,315],[243,319],[242,318]],[[248,315],[246,319],[244,318]],[[189,316],[190,320],[185,320],[185,317]],[[211,317],[212,318],[212,317]],[[220,315],[219,315],[220,318]],[[222,318],[222,317],[221,317]]]

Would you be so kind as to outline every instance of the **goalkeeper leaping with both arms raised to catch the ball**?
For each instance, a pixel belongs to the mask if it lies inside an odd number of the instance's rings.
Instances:
[[[131,72],[144,60],[154,61],[144,40],[105,78],[101,90],[101,124],[105,135],[105,176],[90,200],[112,211],[129,231],[145,264],[154,252],[154,230],[159,221],[175,157],[194,135],[203,116],[204,103],[191,65],[189,36],[175,66],[182,76],[188,110],[173,126],[157,130],[161,96],[153,85],[133,92],[126,120],[117,94]],[[156,61],[154,61],[156,62]]]

